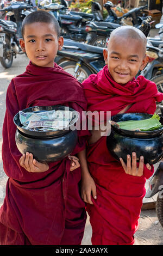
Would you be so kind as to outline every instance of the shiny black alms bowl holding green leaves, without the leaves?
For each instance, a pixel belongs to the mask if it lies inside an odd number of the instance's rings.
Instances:
[[[127,121],[151,118],[150,114],[129,113],[114,115],[111,120]],[[163,118],[160,118],[163,125]],[[163,156],[163,128],[155,131],[128,131],[111,125],[110,136],[106,138],[106,145],[110,154],[119,160],[122,157],[126,162],[127,155],[136,153],[137,161],[142,155],[145,163],[154,164],[159,162]]]

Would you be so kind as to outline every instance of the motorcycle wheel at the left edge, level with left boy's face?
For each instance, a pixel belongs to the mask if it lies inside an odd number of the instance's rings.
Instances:
[[[8,69],[12,65],[13,52],[11,50],[10,40],[5,38],[5,45],[3,45],[3,57],[0,57],[1,65]]]

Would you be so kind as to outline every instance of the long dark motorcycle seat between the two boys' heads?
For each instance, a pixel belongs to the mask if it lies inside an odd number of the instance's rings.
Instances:
[[[82,44],[81,42],[75,42],[71,39],[64,39],[64,45],[65,46],[75,46],[78,47],[79,50],[86,51],[86,52],[94,52],[94,53],[100,53],[103,54],[104,48]]]

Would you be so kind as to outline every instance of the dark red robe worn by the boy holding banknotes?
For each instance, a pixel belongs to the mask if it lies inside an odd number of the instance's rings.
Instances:
[[[29,173],[19,164],[14,115],[32,106],[70,106],[86,110],[82,85],[57,64],[42,68],[30,63],[9,84],[3,125],[3,167],[9,176],[0,211],[1,245],[79,245],[86,212],[80,198],[80,168],[70,172],[68,157],[49,164],[43,173]],[[87,131],[78,131],[73,155],[85,148]]]

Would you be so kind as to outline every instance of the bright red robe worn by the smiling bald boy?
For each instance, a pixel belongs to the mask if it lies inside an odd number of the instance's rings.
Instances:
[[[153,114],[155,101],[163,100],[153,82],[139,76],[127,84],[117,84],[105,66],[97,75],[83,82],[87,111],[111,111],[119,113],[130,104],[126,113]],[[124,172],[106,148],[106,137],[87,147],[89,171],[95,180],[97,199],[87,204],[92,225],[93,245],[133,245],[134,233],[145,196],[145,182],[154,171],[144,165],[143,176]]]

